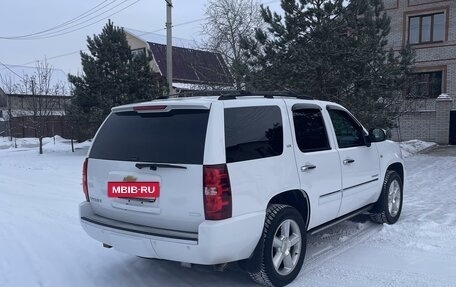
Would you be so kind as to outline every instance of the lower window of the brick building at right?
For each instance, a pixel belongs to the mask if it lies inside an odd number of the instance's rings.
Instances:
[[[442,94],[442,79],[442,71],[413,74],[408,97],[437,98]]]

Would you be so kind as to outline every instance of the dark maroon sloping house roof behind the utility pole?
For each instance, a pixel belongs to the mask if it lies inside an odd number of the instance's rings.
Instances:
[[[151,42],[148,44],[160,72],[166,75],[166,45]],[[174,46],[173,81],[233,85],[233,78],[220,54]]]

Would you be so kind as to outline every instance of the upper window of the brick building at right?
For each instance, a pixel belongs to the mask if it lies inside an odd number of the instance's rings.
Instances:
[[[409,43],[442,42],[445,38],[445,14],[436,13],[409,18]]]

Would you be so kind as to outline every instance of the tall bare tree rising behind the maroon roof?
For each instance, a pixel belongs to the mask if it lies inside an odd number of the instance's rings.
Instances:
[[[236,88],[241,89],[247,65],[240,43],[263,25],[260,4],[257,0],[209,0],[205,14],[202,33],[207,39],[203,46],[223,56]]]

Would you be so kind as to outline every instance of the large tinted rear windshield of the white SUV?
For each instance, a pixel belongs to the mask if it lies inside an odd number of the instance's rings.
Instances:
[[[120,112],[98,132],[90,158],[202,164],[209,110]]]

